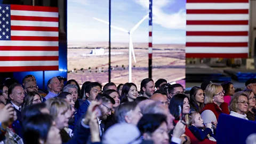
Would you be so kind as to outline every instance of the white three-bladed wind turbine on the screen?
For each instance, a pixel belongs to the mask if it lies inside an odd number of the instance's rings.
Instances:
[[[133,43],[132,43],[132,33],[140,26],[140,24],[148,18],[148,14],[145,15],[145,17],[143,17],[130,31],[124,29],[124,28],[120,28],[120,27],[116,27],[116,26],[110,26],[111,28],[123,31],[124,33],[129,34],[129,83],[132,82],[132,56],[133,56],[133,60],[136,63],[136,58],[135,58],[135,53],[134,53],[134,49],[133,49]],[[98,18],[93,18],[95,20],[98,20],[100,22],[106,23],[109,25],[109,22],[98,19]]]

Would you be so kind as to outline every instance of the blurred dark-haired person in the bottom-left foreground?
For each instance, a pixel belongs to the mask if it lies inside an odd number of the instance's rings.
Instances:
[[[26,144],[61,143],[60,130],[50,115],[39,114],[22,122]]]

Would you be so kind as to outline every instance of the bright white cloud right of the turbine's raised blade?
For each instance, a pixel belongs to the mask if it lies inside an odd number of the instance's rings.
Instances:
[[[177,0],[180,1],[180,0]],[[134,0],[135,3],[140,4],[148,10],[149,1]],[[166,5],[172,5],[174,0],[158,0],[153,2],[153,23],[161,25],[170,29],[186,29],[186,11],[181,9],[176,13],[166,13],[163,11],[163,7]]]

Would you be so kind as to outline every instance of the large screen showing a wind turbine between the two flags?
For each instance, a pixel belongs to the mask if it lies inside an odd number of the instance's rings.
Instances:
[[[68,1],[68,79],[81,86],[86,81],[108,83],[108,4]],[[154,81],[165,78],[185,86],[185,5],[185,0],[153,1]],[[111,0],[111,82],[116,85],[129,82],[131,44],[136,59],[132,57],[132,82],[140,90],[140,82],[148,77],[148,17],[134,29],[148,7],[148,0]]]

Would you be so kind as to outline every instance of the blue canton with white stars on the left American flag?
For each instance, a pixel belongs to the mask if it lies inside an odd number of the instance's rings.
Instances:
[[[0,4],[0,40],[11,40],[11,6]]]

